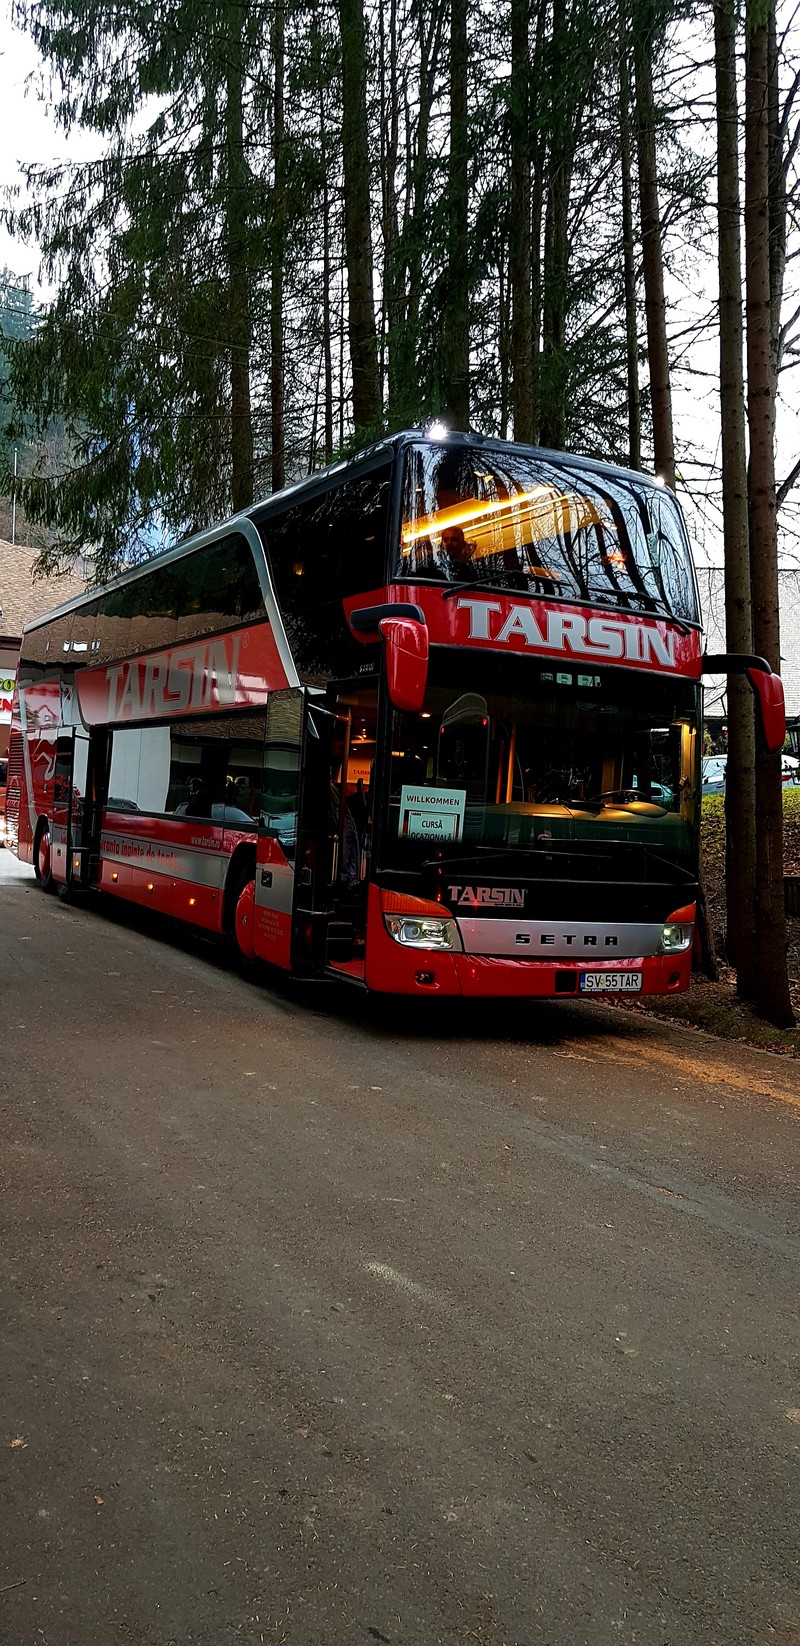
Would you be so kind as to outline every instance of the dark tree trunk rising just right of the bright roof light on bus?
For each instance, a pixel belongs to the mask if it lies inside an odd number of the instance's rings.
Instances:
[[[448,285],[443,324],[444,410],[469,428],[467,5],[449,0]]]

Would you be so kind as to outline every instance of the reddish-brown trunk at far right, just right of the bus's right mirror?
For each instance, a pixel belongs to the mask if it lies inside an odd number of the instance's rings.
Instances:
[[[769,10],[747,5],[744,115],[744,250],[747,291],[747,426],[752,640],[774,670],[780,663],[774,370],[770,291]],[[784,912],[784,811],[780,756],[756,752],[756,1007],[787,1029],[793,1024]]]

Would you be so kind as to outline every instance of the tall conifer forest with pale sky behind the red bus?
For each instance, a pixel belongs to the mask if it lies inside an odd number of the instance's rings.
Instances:
[[[95,143],[26,168],[5,211],[51,290],[41,309],[12,278],[2,295],[0,489],[16,451],[43,566],[89,551],[104,576],[443,416],[677,484],[695,537],[724,542],[729,645],[777,668],[779,540],[792,561],[800,533],[798,18],[18,0],[56,128]],[[728,706],[752,858],[739,841],[729,863],[731,950],[788,1021],[780,783],[734,685]]]

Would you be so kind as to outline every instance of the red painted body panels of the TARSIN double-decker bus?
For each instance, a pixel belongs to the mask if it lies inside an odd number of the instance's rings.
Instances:
[[[622,668],[672,672],[696,678],[700,637],[655,617],[589,611],[510,594],[395,584],[344,602],[346,614],[367,604],[410,604],[425,622],[385,616],[380,632],[359,634],[364,644],[385,644],[387,683],[400,708],[418,711],[425,690],[428,642],[472,650],[515,652],[540,658],[614,663]],[[286,686],[270,624],[253,624],[227,635],[199,639],[107,668],[76,672],[76,693],[86,726],[145,724],[147,721],[219,716],[226,709],[263,706],[272,690]],[[20,704],[10,751],[10,818],[20,858],[33,863],[36,830],[48,820],[53,838],[53,876],[67,877],[67,795],[56,793],[56,739],[63,718],[58,680],[25,688],[25,726]],[[405,696],[403,696],[405,695]],[[403,701],[398,701],[403,698]],[[408,700],[408,701],[405,701]],[[74,714],[69,716],[74,719]],[[72,818],[82,797],[72,790]],[[242,856],[240,848],[247,848]],[[237,864],[252,864],[255,881],[237,881]],[[41,867],[41,864],[40,864]],[[125,810],[102,813],[99,871],[94,884],[174,915],[211,932],[232,927],[244,953],[291,969],[305,953],[305,932],[295,930],[295,867],[277,839],[216,826],[189,816],[148,816]],[[265,892],[268,887],[268,894]],[[690,917],[690,912],[683,912]],[[691,951],[639,960],[604,960],[593,969],[642,971],[642,993],[678,993],[688,986]],[[387,932],[377,886],[369,887],[362,960],[331,968],[379,993],[448,996],[579,996],[576,960],[495,958],[420,951]],[[574,986],[573,986],[574,984]]]

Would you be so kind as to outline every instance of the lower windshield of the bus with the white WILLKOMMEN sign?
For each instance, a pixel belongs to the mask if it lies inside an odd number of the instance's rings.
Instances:
[[[423,713],[395,714],[382,863],[616,843],[693,871],[696,726],[690,680],[492,658],[476,685],[474,658],[438,652]]]

